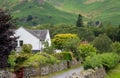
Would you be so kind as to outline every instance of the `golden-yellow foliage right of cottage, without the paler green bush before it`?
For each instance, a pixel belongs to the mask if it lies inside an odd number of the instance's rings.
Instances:
[[[57,34],[54,36],[52,42],[56,48],[64,49],[64,47],[65,47],[64,43],[66,41],[69,41],[69,39],[70,40],[79,40],[79,38],[76,34]],[[77,42],[77,44],[79,44],[79,42]],[[76,45],[73,45],[73,46],[76,46]]]

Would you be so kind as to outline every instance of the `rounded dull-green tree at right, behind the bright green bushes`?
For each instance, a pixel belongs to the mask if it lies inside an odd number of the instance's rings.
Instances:
[[[111,39],[106,34],[100,34],[94,41],[93,45],[100,51],[100,52],[109,52],[110,45],[112,44]]]

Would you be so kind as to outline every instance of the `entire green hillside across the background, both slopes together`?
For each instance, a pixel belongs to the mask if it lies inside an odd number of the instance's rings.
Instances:
[[[0,0],[0,4],[11,9],[19,25],[75,25],[79,13],[84,16],[84,22],[98,20],[104,24],[120,24],[119,0]]]

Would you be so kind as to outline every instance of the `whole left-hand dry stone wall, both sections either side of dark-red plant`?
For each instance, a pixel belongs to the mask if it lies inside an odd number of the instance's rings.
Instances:
[[[64,61],[58,64],[47,65],[39,68],[34,68],[34,67],[24,68],[23,78],[30,78],[31,76],[47,75],[50,73],[67,69],[68,67],[72,67],[78,63],[80,62],[73,60],[69,62]],[[15,73],[9,72],[8,70],[0,70],[0,78],[16,78],[16,76],[15,76]]]

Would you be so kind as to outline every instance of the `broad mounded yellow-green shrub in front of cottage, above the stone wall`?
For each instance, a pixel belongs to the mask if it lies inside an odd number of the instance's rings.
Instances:
[[[45,66],[48,64],[54,64],[57,62],[57,59],[54,56],[51,56],[46,53],[36,53],[33,56],[31,56],[29,59],[27,59],[23,66],[30,67],[30,66]]]

